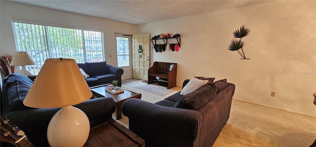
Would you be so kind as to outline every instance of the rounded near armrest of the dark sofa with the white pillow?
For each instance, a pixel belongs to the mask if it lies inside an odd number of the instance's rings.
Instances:
[[[196,110],[164,107],[139,99],[126,100],[122,113],[138,123],[190,141],[197,138],[202,119],[202,113]]]

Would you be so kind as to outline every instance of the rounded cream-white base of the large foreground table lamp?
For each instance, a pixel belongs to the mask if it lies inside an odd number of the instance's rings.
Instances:
[[[51,147],[82,147],[89,137],[87,115],[73,106],[63,107],[50,120],[47,139]]]

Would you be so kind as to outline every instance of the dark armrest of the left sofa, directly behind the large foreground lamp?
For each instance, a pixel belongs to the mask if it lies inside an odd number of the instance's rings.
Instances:
[[[112,117],[112,113],[115,111],[115,103],[113,99],[109,97],[90,99],[74,107],[79,108],[88,116],[91,127],[98,125],[91,122],[104,118],[105,120],[99,124],[104,123],[109,117]],[[60,109],[61,108],[39,108],[17,110],[7,112],[3,114],[3,116],[21,128],[32,143],[42,145],[38,142],[43,141],[37,141],[34,138],[39,136],[43,136],[43,139],[46,138],[48,124],[53,115]]]

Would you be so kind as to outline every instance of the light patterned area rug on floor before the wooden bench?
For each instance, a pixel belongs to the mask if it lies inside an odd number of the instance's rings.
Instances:
[[[133,87],[136,89],[140,89],[146,92],[150,92],[153,94],[157,94],[160,96],[164,96],[167,95],[171,92],[174,92],[173,90],[167,89],[167,88],[163,88],[160,86],[156,86],[156,85],[151,85],[151,84],[147,84],[146,82],[139,82],[139,81],[123,81],[122,84],[124,86],[129,86],[129,87]]]

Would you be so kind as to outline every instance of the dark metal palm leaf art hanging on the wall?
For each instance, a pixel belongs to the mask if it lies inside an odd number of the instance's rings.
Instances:
[[[241,38],[247,36],[249,34],[249,32],[250,32],[250,30],[245,28],[244,25],[240,26],[240,29],[239,30],[237,29],[233,33],[234,37],[239,38],[239,40],[232,39],[231,44],[228,46],[228,49],[231,51],[237,50],[237,52],[242,57],[242,59],[249,59],[249,58],[246,58],[245,53],[243,52],[242,47],[243,47],[244,43],[243,43],[243,41],[241,41]],[[239,49],[241,49],[241,52],[239,51]]]

